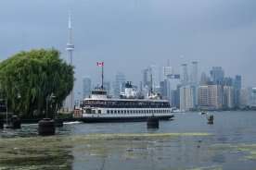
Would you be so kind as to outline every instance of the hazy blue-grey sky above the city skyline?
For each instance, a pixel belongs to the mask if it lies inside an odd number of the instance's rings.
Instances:
[[[98,80],[97,61],[107,79],[122,71],[137,82],[142,68],[168,59],[177,71],[193,60],[200,70],[221,66],[256,86],[255,9],[255,0],[1,1],[0,57],[55,47],[66,58],[71,10],[77,91],[83,77]]]

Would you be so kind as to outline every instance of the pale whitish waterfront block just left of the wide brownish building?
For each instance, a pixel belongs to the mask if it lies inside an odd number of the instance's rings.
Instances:
[[[186,112],[195,108],[195,90],[192,86],[186,85],[180,88],[180,110]]]

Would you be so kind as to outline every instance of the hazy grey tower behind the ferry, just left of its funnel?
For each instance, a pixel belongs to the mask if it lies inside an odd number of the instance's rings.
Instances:
[[[124,91],[125,87],[125,75],[122,72],[118,72],[115,77],[115,82],[114,82],[114,96],[115,97],[120,97],[120,93]]]

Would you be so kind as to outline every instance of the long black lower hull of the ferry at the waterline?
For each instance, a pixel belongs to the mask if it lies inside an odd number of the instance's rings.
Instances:
[[[170,120],[174,115],[157,116],[160,120]],[[127,117],[83,117],[81,120],[84,123],[105,123],[105,122],[144,122],[148,116],[127,116]]]

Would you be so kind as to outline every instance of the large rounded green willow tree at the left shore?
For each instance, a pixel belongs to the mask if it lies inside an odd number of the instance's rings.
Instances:
[[[55,49],[20,52],[0,63],[0,89],[8,109],[22,117],[49,115],[61,107],[73,88],[73,67]],[[55,98],[46,102],[48,97]]]

